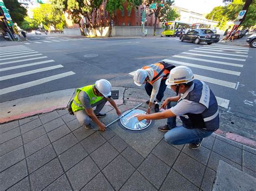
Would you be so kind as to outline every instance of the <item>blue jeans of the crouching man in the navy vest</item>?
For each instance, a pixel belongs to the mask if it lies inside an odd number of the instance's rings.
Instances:
[[[167,109],[174,107],[177,102],[169,102]],[[167,118],[167,125],[173,128],[166,132],[164,139],[171,145],[182,145],[187,143],[200,143],[203,138],[210,136],[213,131],[203,129],[186,129],[184,126],[176,126],[176,117]]]

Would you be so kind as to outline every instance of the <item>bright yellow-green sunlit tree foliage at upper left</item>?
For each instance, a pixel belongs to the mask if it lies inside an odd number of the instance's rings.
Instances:
[[[62,30],[65,26],[63,13],[53,9],[51,4],[41,4],[39,8],[33,9],[33,19],[36,23],[42,23],[45,29],[53,26],[56,30]]]

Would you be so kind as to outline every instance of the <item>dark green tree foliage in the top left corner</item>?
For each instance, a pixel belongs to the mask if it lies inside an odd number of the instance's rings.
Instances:
[[[12,21],[21,25],[26,17],[26,9],[18,3],[18,0],[4,0],[6,8],[9,10]]]

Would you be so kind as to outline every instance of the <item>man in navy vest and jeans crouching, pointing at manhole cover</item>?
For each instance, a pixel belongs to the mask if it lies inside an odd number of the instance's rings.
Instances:
[[[165,141],[173,145],[189,144],[190,148],[197,149],[203,138],[219,128],[217,100],[205,82],[194,80],[192,70],[186,66],[172,69],[166,84],[177,94],[161,105],[167,110],[138,115],[137,118],[139,121],[167,118],[167,125],[158,128],[168,131],[164,135]],[[176,126],[176,116],[180,116],[183,125]]]

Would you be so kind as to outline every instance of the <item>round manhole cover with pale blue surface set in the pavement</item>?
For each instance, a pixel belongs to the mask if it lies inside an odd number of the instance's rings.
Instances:
[[[122,125],[126,129],[130,129],[133,131],[143,130],[143,129],[146,129],[147,127],[149,127],[151,124],[151,120],[144,119],[143,121],[139,122],[137,117],[134,117],[138,114],[146,114],[146,112],[143,110],[140,110],[140,109],[134,109],[133,111],[131,111],[131,110],[126,111],[122,115],[122,118],[120,119]]]

